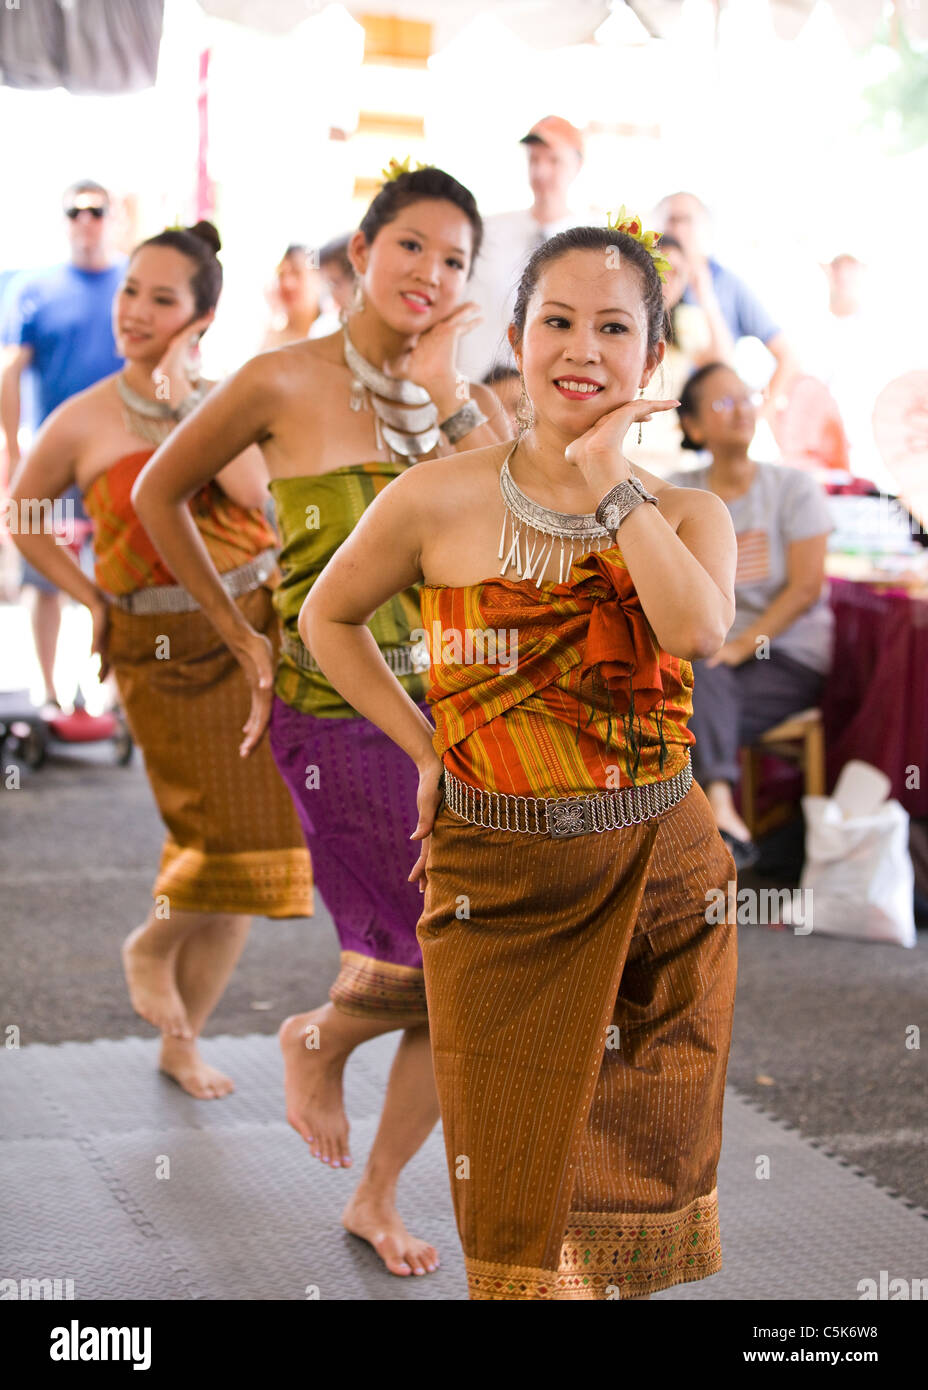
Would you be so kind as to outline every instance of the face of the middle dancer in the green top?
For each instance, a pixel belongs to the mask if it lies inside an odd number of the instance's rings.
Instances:
[[[364,299],[399,334],[425,332],[460,303],[474,245],[464,213],[445,199],[403,207],[368,246],[363,232],[349,243]]]

